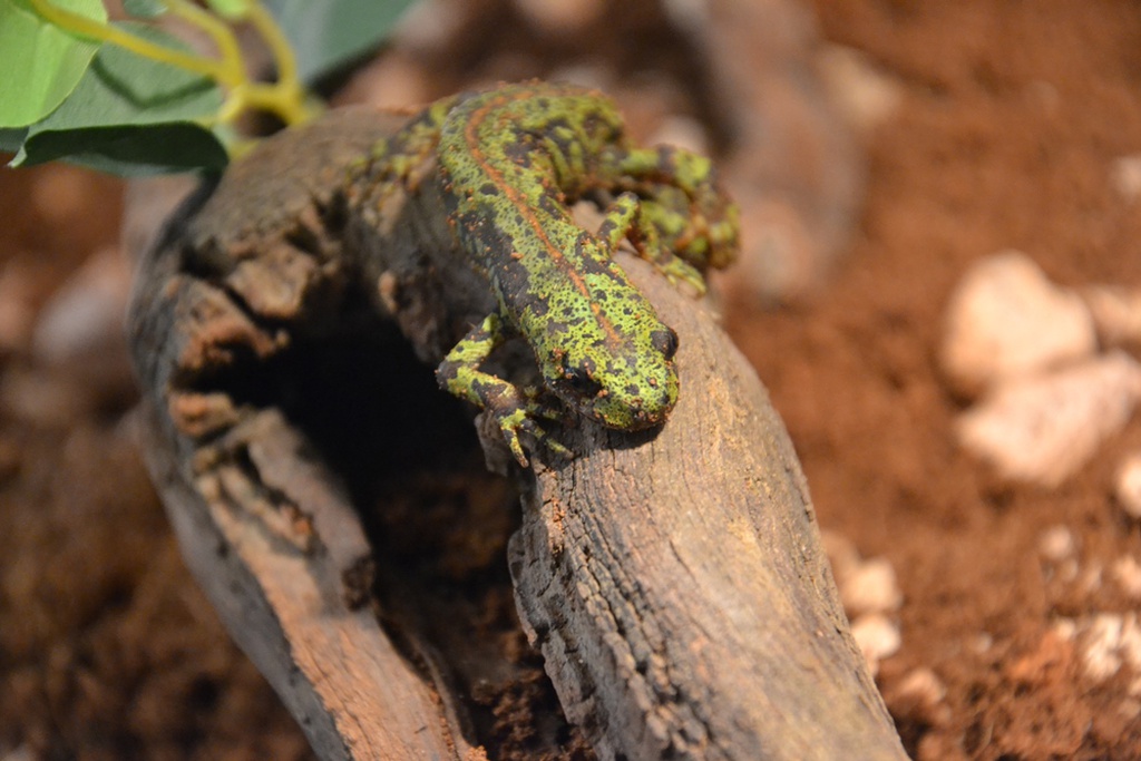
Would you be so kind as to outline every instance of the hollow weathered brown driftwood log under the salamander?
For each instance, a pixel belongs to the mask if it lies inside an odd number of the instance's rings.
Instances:
[[[431,165],[381,208],[346,186],[394,127],[346,111],[268,140],[141,256],[144,442],[188,565],[322,758],[478,759],[464,666],[402,621],[406,598],[386,606],[363,526],[361,473],[434,435],[407,407],[443,397],[389,356],[430,367],[489,307]],[[604,759],[905,758],[763,388],[706,305],[622,261],[681,339],[670,421],[556,429],[577,455],[535,450],[527,471],[483,437],[523,495],[503,562],[566,717]],[[350,388],[370,362],[415,379]],[[355,412],[385,395],[403,416]]]

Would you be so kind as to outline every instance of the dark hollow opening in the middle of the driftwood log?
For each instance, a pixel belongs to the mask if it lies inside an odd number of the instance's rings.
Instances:
[[[374,609],[426,679],[452,686],[472,744],[588,753],[519,625],[505,560],[518,494],[487,472],[472,410],[439,390],[363,294],[347,297],[337,325],[294,333],[266,362],[246,351],[193,386],[277,407],[343,483],[373,548]]]

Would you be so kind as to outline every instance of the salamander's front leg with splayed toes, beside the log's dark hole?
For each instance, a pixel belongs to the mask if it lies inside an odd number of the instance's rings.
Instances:
[[[561,420],[563,413],[543,404],[534,388],[520,388],[479,370],[485,359],[504,341],[499,315],[491,314],[448,351],[436,369],[440,387],[472,404],[483,407],[495,419],[516,461],[527,467],[520,434],[527,434],[558,455],[570,458],[570,451],[550,438],[536,419]]]

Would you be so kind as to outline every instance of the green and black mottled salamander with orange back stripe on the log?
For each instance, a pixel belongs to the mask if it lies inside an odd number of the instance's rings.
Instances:
[[[383,159],[399,172],[436,139],[448,221],[497,303],[440,364],[440,384],[495,415],[521,464],[519,432],[542,437],[534,419],[556,415],[534,389],[479,369],[513,334],[574,411],[622,430],[663,422],[678,399],[677,334],[612,257],[629,238],[703,292],[701,270],[728,264],[737,243],[737,210],[710,161],[634,148],[607,98],[541,82],[435,104]],[[610,199],[597,233],[570,217],[581,199]]]

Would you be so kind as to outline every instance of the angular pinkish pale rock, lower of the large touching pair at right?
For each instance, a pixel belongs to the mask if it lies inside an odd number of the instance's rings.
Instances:
[[[1141,365],[1123,351],[1012,379],[964,412],[960,444],[1005,477],[1055,486],[1119,431],[1141,395]]]

